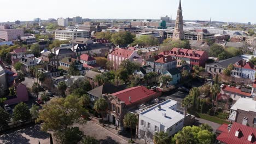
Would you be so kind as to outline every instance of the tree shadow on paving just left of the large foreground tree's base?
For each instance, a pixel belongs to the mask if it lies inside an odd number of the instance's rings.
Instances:
[[[30,128],[22,129],[20,131],[21,133],[25,133],[26,135],[29,135],[30,137],[34,137],[37,139],[49,139],[49,134],[40,130],[40,125],[33,125]]]

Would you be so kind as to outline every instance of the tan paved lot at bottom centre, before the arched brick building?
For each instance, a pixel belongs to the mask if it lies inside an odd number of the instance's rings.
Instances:
[[[111,133],[110,131],[102,128],[100,125],[92,121],[88,121],[86,124],[74,124],[75,127],[79,127],[84,132],[84,135],[89,135],[100,140],[101,144],[127,144],[128,142],[122,139],[120,136]]]

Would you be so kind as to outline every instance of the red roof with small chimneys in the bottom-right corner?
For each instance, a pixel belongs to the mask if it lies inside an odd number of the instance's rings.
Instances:
[[[235,136],[236,131],[240,131],[238,137]],[[252,141],[248,141],[249,135],[252,135]],[[255,135],[256,128],[248,127],[246,125],[234,122],[230,131],[223,131],[223,133],[217,137],[217,140],[227,144],[251,144],[256,143]]]

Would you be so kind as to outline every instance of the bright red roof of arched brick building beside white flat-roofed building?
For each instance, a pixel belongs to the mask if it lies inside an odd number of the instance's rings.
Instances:
[[[123,91],[112,93],[112,95],[115,95],[121,101],[124,101],[126,105],[130,105],[138,100],[148,98],[154,94],[156,94],[156,92],[149,90],[144,86],[131,87]],[[131,97],[131,102],[129,101],[129,97]]]

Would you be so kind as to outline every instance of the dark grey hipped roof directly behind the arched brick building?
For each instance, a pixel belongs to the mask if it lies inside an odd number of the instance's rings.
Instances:
[[[102,97],[102,94],[109,94],[122,91],[123,89],[116,87],[110,83],[104,83],[103,85],[96,87],[89,91],[88,93],[94,95],[95,97]]]

